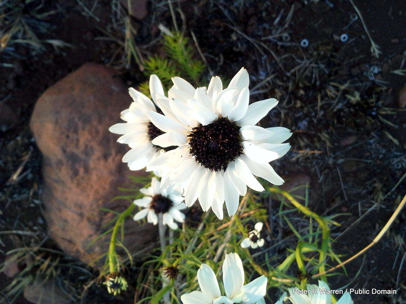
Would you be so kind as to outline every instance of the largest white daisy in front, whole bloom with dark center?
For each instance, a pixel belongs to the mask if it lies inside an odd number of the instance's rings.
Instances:
[[[223,204],[229,216],[235,214],[246,186],[264,190],[255,176],[275,185],[283,183],[269,162],[286,154],[290,145],[283,141],[292,133],[282,127],[256,126],[278,101],[269,98],[248,105],[249,77],[244,68],[224,90],[217,76],[207,91],[179,77],[172,80],[168,98],[157,97],[168,105],[165,111],[161,107],[165,115],[149,111],[148,117],[165,132],[152,143],[178,148],[155,158],[150,169],[164,171],[164,184],[181,183],[186,206],[199,199],[203,211],[212,208],[222,219]]]

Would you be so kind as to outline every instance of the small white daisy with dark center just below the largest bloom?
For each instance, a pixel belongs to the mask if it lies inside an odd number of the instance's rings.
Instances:
[[[173,186],[163,189],[161,183],[156,178],[152,178],[151,186],[141,189],[140,192],[146,196],[136,199],[134,204],[145,209],[134,215],[134,221],[147,216],[148,223],[156,225],[160,213],[163,214],[162,223],[172,229],[178,227],[174,220],[180,223],[184,221],[185,215],[179,211],[186,208],[186,205],[182,203],[184,198]]]

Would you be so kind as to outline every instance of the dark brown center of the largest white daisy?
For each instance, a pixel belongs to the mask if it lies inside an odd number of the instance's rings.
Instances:
[[[228,164],[242,154],[240,127],[227,118],[194,127],[188,137],[190,153],[211,171],[227,169]]]

